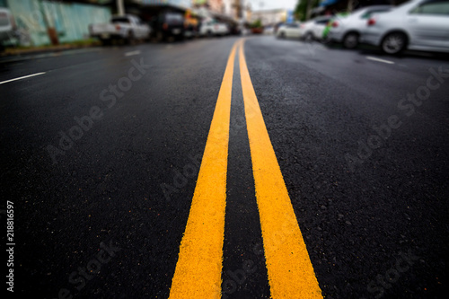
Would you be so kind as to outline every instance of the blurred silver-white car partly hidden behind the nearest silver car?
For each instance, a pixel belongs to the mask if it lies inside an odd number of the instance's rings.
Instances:
[[[390,11],[390,5],[373,5],[358,9],[348,16],[338,15],[330,21],[330,31],[327,38],[343,44],[344,48],[356,48],[360,33],[366,27],[366,21],[373,13]]]

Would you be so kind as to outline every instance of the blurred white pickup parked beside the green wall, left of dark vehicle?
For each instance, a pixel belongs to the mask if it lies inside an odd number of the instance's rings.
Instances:
[[[90,25],[89,33],[92,38],[108,44],[111,40],[146,40],[150,37],[151,29],[135,15],[125,14],[113,16],[108,23]]]

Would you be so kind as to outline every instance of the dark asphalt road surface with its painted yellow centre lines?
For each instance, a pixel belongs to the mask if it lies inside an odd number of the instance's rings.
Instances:
[[[263,36],[0,64],[8,295],[447,295],[445,57]]]

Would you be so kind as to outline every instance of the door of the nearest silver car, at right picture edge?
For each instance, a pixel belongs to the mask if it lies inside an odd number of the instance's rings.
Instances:
[[[449,1],[428,0],[406,17],[410,44],[418,47],[449,48]]]

